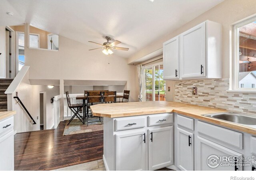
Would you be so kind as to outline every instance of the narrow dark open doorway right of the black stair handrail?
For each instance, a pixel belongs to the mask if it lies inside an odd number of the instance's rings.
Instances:
[[[40,130],[46,130],[46,92],[40,92]]]

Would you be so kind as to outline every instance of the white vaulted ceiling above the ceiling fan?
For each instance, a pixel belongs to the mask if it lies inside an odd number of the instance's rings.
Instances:
[[[0,26],[30,23],[98,48],[105,36],[129,51],[128,58],[158,37],[175,30],[223,0],[1,0]],[[13,12],[8,16],[6,12]],[[112,41],[110,41],[112,42]],[[61,46],[61,44],[60,44]],[[89,49],[89,48],[88,48]],[[100,51],[100,50],[98,50]]]

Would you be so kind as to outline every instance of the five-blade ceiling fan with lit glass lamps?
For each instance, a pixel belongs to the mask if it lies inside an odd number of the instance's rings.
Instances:
[[[108,41],[111,40],[111,38],[108,37],[108,36],[106,36],[106,40],[107,40],[107,42],[104,42],[103,44],[99,44],[97,42],[88,41],[88,42],[92,42],[92,43],[95,43],[95,44],[98,44],[98,45],[102,46],[101,48],[95,48],[95,49],[90,49],[90,50],[103,49],[102,52],[104,54],[106,54],[106,55],[112,54],[113,53],[113,51],[112,51],[113,49],[114,50],[123,50],[123,51],[128,51],[129,50],[129,48],[116,47],[116,45],[121,43],[118,40],[115,40],[114,42],[108,42]]]

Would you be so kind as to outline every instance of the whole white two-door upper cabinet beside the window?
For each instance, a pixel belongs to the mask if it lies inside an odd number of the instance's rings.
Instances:
[[[222,78],[221,24],[207,20],[168,40],[163,58],[166,80]]]

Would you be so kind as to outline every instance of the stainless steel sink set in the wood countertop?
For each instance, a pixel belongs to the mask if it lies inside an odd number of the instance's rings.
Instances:
[[[223,112],[223,113],[216,113],[216,114],[205,114],[204,116],[225,120],[225,121],[233,122],[236,124],[242,124],[244,126],[250,126],[254,128],[256,126],[256,115],[254,114]]]

